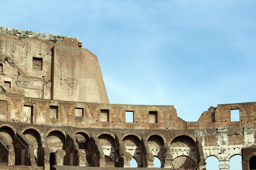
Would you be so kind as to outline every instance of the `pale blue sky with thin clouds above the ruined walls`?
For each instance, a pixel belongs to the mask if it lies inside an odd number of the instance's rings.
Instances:
[[[78,37],[99,59],[110,103],[255,102],[256,1],[0,0],[0,26]]]

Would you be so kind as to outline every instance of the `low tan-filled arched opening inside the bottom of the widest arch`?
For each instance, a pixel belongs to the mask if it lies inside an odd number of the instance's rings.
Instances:
[[[178,156],[172,161],[173,168],[195,168],[195,162],[188,156]]]

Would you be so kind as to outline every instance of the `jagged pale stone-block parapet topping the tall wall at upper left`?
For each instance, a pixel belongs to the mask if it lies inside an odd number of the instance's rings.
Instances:
[[[14,28],[7,28],[7,27],[1,27],[0,26],[0,33],[8,33],[8,34],[13,34],[15,36],[21,36],[21,38],[36,38],[36,39],[41,39],[41,40],[47,40],[49,42],[63,42],[64,38],[72,38],[68,36],[63,36],[63,35],[54,35],[54,34],[49,34],[49,33],[36,33],[33,31],[25,31],[25,30],[17,30]],[[79,38],[76,38],[79,41]],[[83,46],[82,41],[79,41],[78,43],[79,47]]]

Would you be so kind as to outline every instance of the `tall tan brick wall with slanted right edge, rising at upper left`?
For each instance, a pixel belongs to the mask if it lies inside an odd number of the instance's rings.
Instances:
[[[0,28],[1,90],[33,98],[109,103],[98,58],[79,48],[78,39],[55,36],[59,41],[52,42],[48,34],[35,37],[37,33],[30,31],[22,38],[15,29]],[[62,56],[64,51],[68,53]],[[77,67],[66,67],[71,63]]]

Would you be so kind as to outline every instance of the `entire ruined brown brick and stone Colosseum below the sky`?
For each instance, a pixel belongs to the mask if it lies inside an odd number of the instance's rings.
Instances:
[[[152,168],[154,158],[201,169],[214,156],[229,170],[234,155],[256,169],[256,102],[210,106],[197,122],[173,105],[110,104],[98,58],[79,39],[0,30],[0,169],[127,168],[131,159]]]

